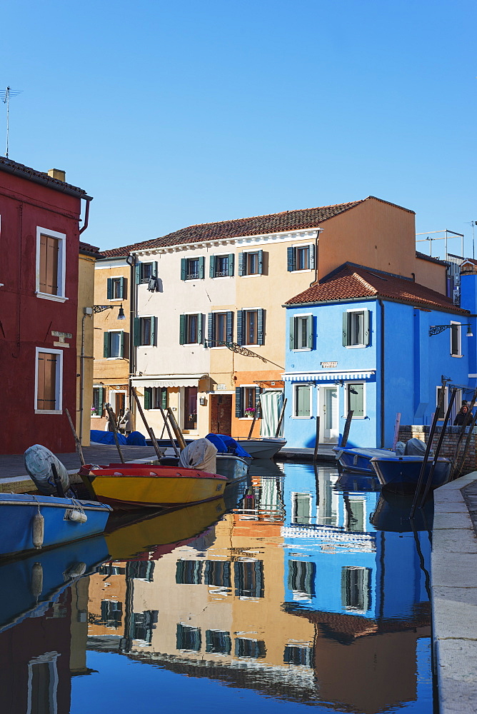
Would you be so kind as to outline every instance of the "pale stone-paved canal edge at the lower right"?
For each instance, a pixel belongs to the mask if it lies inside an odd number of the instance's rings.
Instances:
[[[441,714],[477,711],[477,471],[434,491],[433,644]]]

